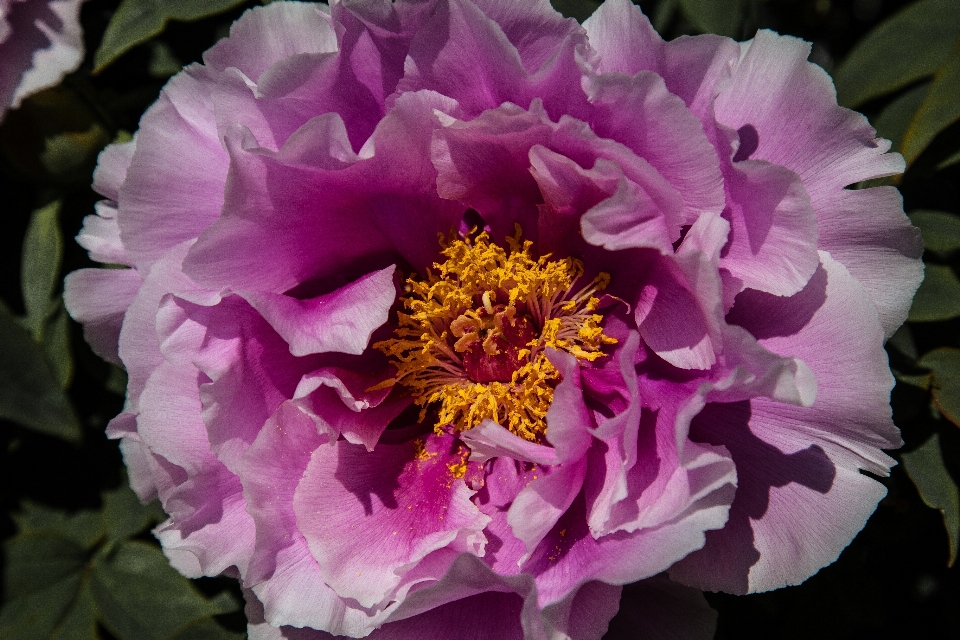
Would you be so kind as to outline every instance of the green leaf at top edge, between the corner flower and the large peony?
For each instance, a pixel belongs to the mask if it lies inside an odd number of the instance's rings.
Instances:
[[[94,73],[100,73],[132,47],[159,35],[170,20],[190,22],[216,15],[246,0],[123,0],[107,25],[94,54]]]

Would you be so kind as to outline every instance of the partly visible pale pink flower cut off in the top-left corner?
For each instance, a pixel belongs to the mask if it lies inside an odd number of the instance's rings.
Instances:
[[[83,60],[83,0],[0,0],[0,120]]]

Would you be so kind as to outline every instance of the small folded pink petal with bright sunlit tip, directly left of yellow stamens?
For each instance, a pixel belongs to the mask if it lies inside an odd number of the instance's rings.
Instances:
[[[293,355],[328,351],[359,355],[373,330],[387,321],[396,298],[395,269],[375,271],[308,300],[255,292],[243,297],[290,344]]]

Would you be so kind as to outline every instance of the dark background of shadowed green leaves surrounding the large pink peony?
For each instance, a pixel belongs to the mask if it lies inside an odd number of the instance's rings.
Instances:
[[[66,273],[92,266],[73,237],[99,199],[100,150],[128,139],[166,80],[255,4],[89,0],[80,68],[0,124],[0,639],[244,637],[236,581],[186,580],[160,553],[149,530],[162,512],[139,505],[103,434],[125,374],[90,351],[60,295]],[[554,0],[581,21],[598,4]],[[926,246],[927,278],[887,345],[905,441],[881,479],[887,497],[804,584],[708,594],[716,637],[960,638],[960,0],[638,4],[665,39],[773,29],[812,42],[840,103],[904,154],[906,173],[884,182]],[[607,637],[634,636],[621,620]]]

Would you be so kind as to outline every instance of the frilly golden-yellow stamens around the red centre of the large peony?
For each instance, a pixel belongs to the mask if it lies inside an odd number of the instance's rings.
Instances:
[[[610,281],[599,274],[574,291],[583,263],[533,259],[520,227],[509,251],[486,232],[473,238],[441,236],[446,262],[426,278],[407,279],[396,337],[374,345],[388,355],[396,377],[374,387],[403,385],[436,428],[465,431],[486,419],[539,442],[560,373],[546,348],[593,361],[616,340],[603,333],[594,296]]]

